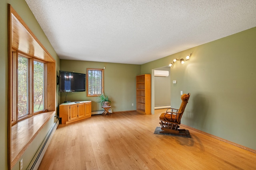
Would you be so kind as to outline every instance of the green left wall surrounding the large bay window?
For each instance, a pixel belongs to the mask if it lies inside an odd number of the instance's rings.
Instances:
[[[39,41],[44,45],[47,51],[52,55],[52,57],[56,60],[56,72],[60,69],[60,60],[54,51],[52,45],[48,41],[46,35],[42,31],[40,25],[34,18],[34,15],[28,8],[25,0],[0,0],[0,91],[1,91],[1,98],[0,98],[0,107],[2,111],[0,112],[0,169],[6,170],[8,168],[7,165],[7,93],[8,93],[8,39],[7,39],[7,4],[11,4],[14,10],[20,15],[20,17],[26,22],[28,27],[31,31],[36,35]],[[56,87],[54,87],[56,88]],[[56,93],[56,103],[58,103],[58,94]],[[57,104],[56,104],[57,106]],[[53,122],[53,121],[51,121]],[[48,131],[51,125],[47,125],[48,129],[42,130]],[[45,135],[40,133],[38,137],[36,137],[35,141],[38,143],[31,144],[28,150],[37,150],[39,145],[42,142],[41,139],[44,139]],[[30,157],[33,153],[25,153],[23,158],[23,169],[26,169],[28,166],[27,162],[30,162]],[[17,165],[14,166],[18,167]],[[18,168],[19,169],[19,168]]]

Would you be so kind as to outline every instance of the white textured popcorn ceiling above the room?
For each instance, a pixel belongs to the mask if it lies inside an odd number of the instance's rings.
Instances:
[[[26,0],[60,59],[144,64],[256,26],[256,0]]]

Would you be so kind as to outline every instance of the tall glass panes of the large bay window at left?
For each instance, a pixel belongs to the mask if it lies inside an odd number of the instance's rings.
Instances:
[[[16,109],[12,113],[12,124],[45,111],[45,66],[38,59],[20,53],[17,56],[17,52],[13,51],[13,85],[17,93],[13,93]]]

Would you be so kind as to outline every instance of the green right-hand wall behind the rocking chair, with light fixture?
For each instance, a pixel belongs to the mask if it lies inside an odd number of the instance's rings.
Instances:
[[[190,53],[170,72],[171,106],[179,108],[180,91],[191,94],[182,123],[256,149],[256,27],[142,64],[141,73]]]

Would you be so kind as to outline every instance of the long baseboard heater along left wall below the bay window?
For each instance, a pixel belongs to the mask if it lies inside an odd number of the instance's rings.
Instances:
[[[34,158],[32,159],[32,161],[30,162],[27,170],[37,170],[42,158],[44,157],[44,153],[46,152],[46,149],[52,139],[52,136],[54,134],[54,132],[56,131],[57,127],[59,125],[59,119],[56,119],[56,121],[54,122],[54,124],[52,125],[52,127],[50,128],[49,132],[47,133],[46,137],[44,138],[44,141],[42,142],[42,144],[40,145],[39,149],[37,150]]]

